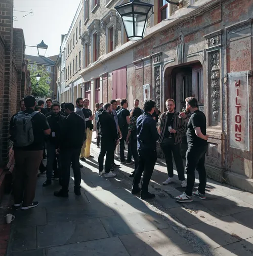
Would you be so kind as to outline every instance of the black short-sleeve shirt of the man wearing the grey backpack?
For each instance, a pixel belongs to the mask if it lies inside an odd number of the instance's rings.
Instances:
[[[25,113],[31,114],[33,112],[33,109],[26,109],[24,111]],[[44,114],[41,114],[38,112],[36,115],[33,116],[32,118],[32,130],[33,130],[33,136],[34,136],[34,141],[31,145],[26,146],[26,147],[15,147],[15,143],[13,146],[14,150],[43,150],[43,145],[44,145],[44,140],[45,140],[45,135],[44,135],[44,130],[50,129],[49,123],[47,121],[47,118]],[[13,118],[11,118],[10,122],[10,130],[13,128]]]

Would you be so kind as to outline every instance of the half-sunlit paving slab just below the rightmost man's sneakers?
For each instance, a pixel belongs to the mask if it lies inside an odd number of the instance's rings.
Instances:
[[[199,204],[197,202],[182,204],[181,207],[172,208],[168,211],[171,212],[186,226],[219,218],[219,215],[208,210],[202,204]]]

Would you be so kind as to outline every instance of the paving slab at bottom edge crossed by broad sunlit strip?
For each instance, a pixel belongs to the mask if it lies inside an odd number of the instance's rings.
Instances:
[[[171,228],[120,236],[119,239],[131,256],[173,256],[194,251]]]

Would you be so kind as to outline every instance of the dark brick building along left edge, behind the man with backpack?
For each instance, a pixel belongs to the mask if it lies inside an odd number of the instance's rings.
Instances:
[[[23,30],[13,28],[13,0],[0,0],[0,200],[6,174],[13,169],[12,142],[9,140],[9,123],[19,110],[29,76],[24,60]]]

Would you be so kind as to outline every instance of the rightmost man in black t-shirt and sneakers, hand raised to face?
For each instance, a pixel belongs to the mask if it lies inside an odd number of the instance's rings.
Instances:
[[[206,135],[206,118],[204,113],[198,110],[198,102],[195,98],[186,98],[185,102],[186,111],[191,112],[186,133],[188,143],[185,167],[187,186],[184,194],[175,198],[178,202],[192,202],[192,195],[200,199],[206,199],[205,153],[209,137]],[[185,113],[181,112],[180,115],[186,120],[188,119]],[[195,182],[195,169],[199,173],[199,186],[197,191],[192,192]]]

